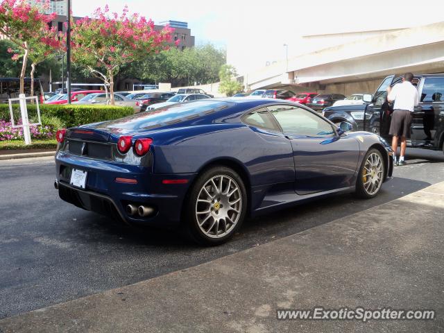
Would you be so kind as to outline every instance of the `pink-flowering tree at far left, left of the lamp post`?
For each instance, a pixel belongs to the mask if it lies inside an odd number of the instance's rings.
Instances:
[[[49,5],[48,1],[39,2],[43,7]],[[37,46],[49,37],[49,22],[56,17],[56,13],[46,15],[40,13],[39,9],[39,6],[31,6],[25,0],[3,0],[0,3],[0,33],[18,46],[18,49],[12,52],[12,60],[19,60],[21,57],[23,59],[20,94],[24,94],[24,78],[31,45]],[[54,42],[51,37],[50,40],[51,43]],[[11,48],[8,51],[14,50]]]

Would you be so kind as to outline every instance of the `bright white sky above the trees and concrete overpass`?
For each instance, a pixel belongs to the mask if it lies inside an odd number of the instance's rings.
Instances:
[[[94,3],[94,5],[92,5]],[[420,4],[418,4],[420,3]],[[441,0],[371,1],[148,1],[72,0],[76,16],[91,15],[106,4],[121,12],[128,5],[154,22],[188,22],[196,44],[223,47],[239,74],[305,53],[302,35],[407,28],[444,21]],[[322,45],[321,45],[322,46]]]

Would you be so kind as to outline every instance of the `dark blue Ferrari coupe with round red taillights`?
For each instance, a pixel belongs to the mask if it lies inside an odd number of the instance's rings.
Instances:
[[[62,200],[128,224],[184,226],[206,245],[230,239],[247,216],[289,204],[347,192],[373,198],[393,171],[378,135],[344,133],[282,100],[180,103],[56,137]]]

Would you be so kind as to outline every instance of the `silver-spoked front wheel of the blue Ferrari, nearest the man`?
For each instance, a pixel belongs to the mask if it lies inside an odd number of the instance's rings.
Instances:
[[[356,181],[356,194],[360,198],[373,198],[377,196],[384,181],[384,159],[377,149],[370,149],[359,169]]]

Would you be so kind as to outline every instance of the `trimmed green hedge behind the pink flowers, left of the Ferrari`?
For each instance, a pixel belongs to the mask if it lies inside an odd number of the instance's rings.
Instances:
[[[19,104],[12,104],[15,120],[20,118]],[[96,123],[98,121],[113,120],[126,117],[134,113],[134,109],[129,106],[112,105],[40,105],[40,114],[47,117],[57,117],[69,127],[84,125],[86,123]],[[28,114],[30,121],[36,117],[37,107],[28,104]],[[33,116],[34,115],[34,116]],[[0,104],[0,119],[10,120],[8,104]]]

